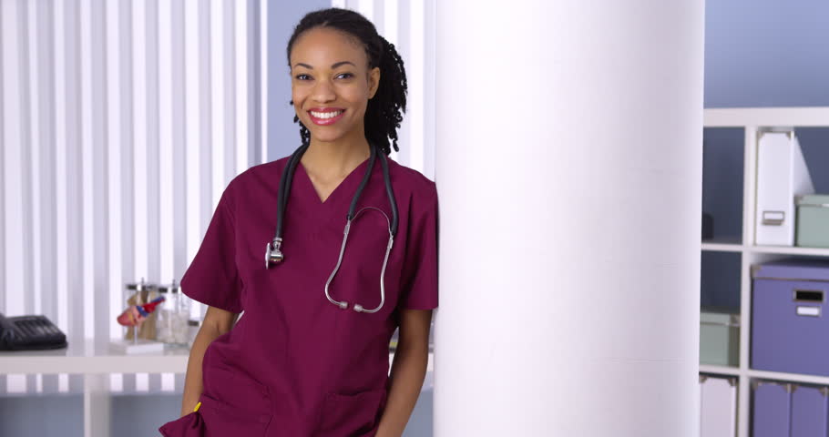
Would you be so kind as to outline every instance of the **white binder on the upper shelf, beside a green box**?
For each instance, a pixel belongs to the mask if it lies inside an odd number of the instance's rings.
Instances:
[[[809,168],[794,132],[762,132],[757,142],[755,243],[793,246],[794,197],[813,193]]]

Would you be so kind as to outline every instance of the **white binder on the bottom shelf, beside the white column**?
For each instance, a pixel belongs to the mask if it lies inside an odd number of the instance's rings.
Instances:
[[[737,432],[737,379],[701,376],[700,437],[734,437]]]

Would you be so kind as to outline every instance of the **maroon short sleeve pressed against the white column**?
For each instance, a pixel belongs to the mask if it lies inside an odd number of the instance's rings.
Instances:
[[[424,196],[425,202],[414,204],[410,211],[408,242],[403,269],[402,299],[405,310],[437,308],[437,237],[438,208],[435,184]]]

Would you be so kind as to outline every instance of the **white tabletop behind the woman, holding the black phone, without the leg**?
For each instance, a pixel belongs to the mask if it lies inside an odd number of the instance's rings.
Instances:
[[[389,364],[394,352],[389,353]],[[71,341],[67,349],[55,351],[0,352],[0,374],[96,374],[96,373],[185,373],[189,348],[168,347],[163,352],[125,354],[109,344],[92,340]],[[433,371],[429,353],[427,371]]]

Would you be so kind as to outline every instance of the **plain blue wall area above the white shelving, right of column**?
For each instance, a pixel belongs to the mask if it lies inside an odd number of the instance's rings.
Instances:
[[[705,7],[705,107],[829,106],[829,2]]]

